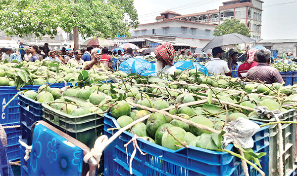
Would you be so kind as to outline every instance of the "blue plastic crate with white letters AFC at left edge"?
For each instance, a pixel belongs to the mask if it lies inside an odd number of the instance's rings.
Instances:
[[[52,88],[62,88],[64,87],[64,83],[55,83],[51,84],[50,87]],[[71,85],[71,83],[67,83],[67,85]],[[21,88],[21,90],[35,90],[38,91],[38,88],[41,85],[31,85],[31,86],[24,86]],[[0,103],[3,109],[3,106],[9,102],[9,100],[12,99],[13,96],[15,96],[18,92],[18,90],[15,89],[16,86],[0,86]],[[13,124],[16,122],[20,122],[20,110],[19,110],[19,99],[16,97],[14,100],[12,100],[8,106],[2,110],[1,112],[1,118],[0,118],[0,124],[1,125],[8,125]]]

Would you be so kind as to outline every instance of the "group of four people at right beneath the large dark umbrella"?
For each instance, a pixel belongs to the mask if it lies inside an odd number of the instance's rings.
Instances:
[[[212,49],[213,58],[205,67],[212,75],[247,78],[255,82],[272,84],[283,83],[280,72],[271,66],[271,52],[268,49],[249,49],[246,52],[245,63],[238,63],[238,52],[234,49],[228,51],[228,62],[221,60],[225,51],[221,47]]]

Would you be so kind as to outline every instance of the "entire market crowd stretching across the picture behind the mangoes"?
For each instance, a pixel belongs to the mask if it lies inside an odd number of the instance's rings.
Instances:
[[[129,58],[137,57],[137,50],[127,48],[124,53],[121,50],[109,51],[108,48],[94,48],[93,46],[87,46],[85,49],[73,51],[70,49],[66,51],[63,47],[61,50],[50,50],[49,44],[45,43],[44,46],[30,45],[29,48],[24,48],[23,43],[20,42],[19,48],[1,48],[1,60],[7,60],[8,62],[22,61],[56,61],[64,65],[71,65],[75,68],[83,68],[84,70],[90,70],[94,68],[96,70],[113,70],[112,58],[119,58],[115,66],[118,68],[122,62]],[[267,84],[274,82],[282,83],[283,79],[278,70],[271,67],[273,58],[271,52],[268,49],[248,49],[246,52],[245,63],[238,63],[239,53],[230,49],[227,51],[228,62],[222,60],[223,53],[225,51],[221,47],[215,47],[211,53],[202,54],[192,53],[186,49],[181,50],[177,55],[171,44],[165,43],[156,47],[156,50],[152,53],[157,59],[155,68],[157,75],[162,73],[173,74],[176,68],[174,67],[173,60],[182,57],[192,57],[199,62],[199,58],[207,58],[205,67],[211,75],[223,74],[226,76],[248,78],[254,81],[264,81]],[[146,56],[150,53],[146,54]],[[293,53],[282,53],[279,58],[290,59],[293,57]]]

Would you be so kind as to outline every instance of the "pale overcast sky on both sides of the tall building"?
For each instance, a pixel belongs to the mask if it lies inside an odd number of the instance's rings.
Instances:
[[[219,9],[228,0],[134,0],[140,24],[156,22],[160,12],[182,15]],[[297,38],[297,0],[262,0],[262,38]],[[292,2],[292,3],[290,3]]]

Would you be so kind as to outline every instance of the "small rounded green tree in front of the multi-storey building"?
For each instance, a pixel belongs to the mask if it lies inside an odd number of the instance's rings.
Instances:
[[[241,23],[240,20],[237,19],[226,19],[224,23],[220,24],[219,26],[216,26],[214,29],[214,36],[221,36],[225,34],[242,34],[250,37],[249,29],[244,23]]]

